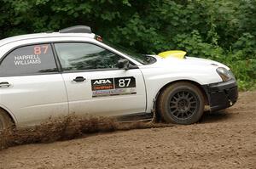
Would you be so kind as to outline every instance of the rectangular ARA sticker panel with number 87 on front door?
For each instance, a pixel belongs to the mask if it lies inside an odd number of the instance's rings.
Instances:
[[[133,76],[91,80],[92,97],[136,94]]]

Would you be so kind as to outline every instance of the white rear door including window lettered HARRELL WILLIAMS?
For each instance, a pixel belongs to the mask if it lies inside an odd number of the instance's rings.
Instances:
[[[0,65],[0,107],[18,126],[68,115],[67,93],[50,44],[16,48]]]

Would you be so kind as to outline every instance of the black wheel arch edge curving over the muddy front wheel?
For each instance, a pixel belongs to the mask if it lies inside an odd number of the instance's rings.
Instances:
[[[159,97],[160,97],[160,93],[162,93],[162,91],[164,91],[166,89],[166,87],[169,87],[171,86],[172,84],[174,83],[177,83],[177,82],[189,82],[193,85],[195,85],[196,87],[198,87],[200,90],[201,90],[201,93],[203,94],[203,97],[204,97],[204,100],[205,100],[205,105],[208,105],[209,104],[209,99],[208,99],[208,96],[207,96],[207,93],[206,91],[204,90],[204,88],[201,86],[200,83],[198,82],[195,82],[195,81],[191,81],[191,80],[177,80],[177,81],[173,81],[173,82],[169,82],[167,83],[166,85],[164,85],[163,87],[160,88],[160,90],[158,91],[158,93],[156,94],[155,96],[155,101],[154,101],[154,111],[155,111],[155,114],[156,116],[159,116],[158,115],[158,108],[157,108],[157,102],[159,101]]]

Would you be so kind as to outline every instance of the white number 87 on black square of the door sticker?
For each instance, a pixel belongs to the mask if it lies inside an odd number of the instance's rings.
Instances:
[[[136,82],[134,77],[119,77],[114,78],[115,88],[130,88],[136,87]]]

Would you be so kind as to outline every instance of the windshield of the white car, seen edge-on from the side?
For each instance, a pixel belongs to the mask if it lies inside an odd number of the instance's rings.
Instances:
[[[103,41],[101,41],[101,42],[103,42]],[[152,57],[152,56],[148,56],[145,54],[137,54],[137,53],[131,51],[130,49],[124,48],[119,45],[113,45],[111,42],[104,40],[103,43],[118,50],[119,52],[131,57],[131,59],[137,60],[139,63],[141,63],[143,65],[153,64],[156,61],[156,59],[154,59],[154,57]]]

